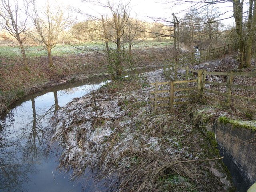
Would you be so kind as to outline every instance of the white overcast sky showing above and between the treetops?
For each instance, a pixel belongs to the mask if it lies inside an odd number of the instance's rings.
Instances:
[[[49,0],[50,2],[54,2],[55,0]],[[82,2],[82,0],[57,0],[58,2],[61,2],[62,5],[66,6],[72,6],[74,8],[79,8],[83,12],[87,12],[90,14],[95,15],[101,15],[105,14],[106,10],[104,8],[99,6],[94,6],[91,3]],[[91,0],[92,1],[92,0]],[[94,0],[95,1],[95,0]],[[100,0],[103,4],[106,4],[107,0]],[[124,0],[120,0],[123,1]],[[129,0],[125,0],[126,3],[129,2]],[[173,1],[173,2],[171,2]],[[39,0],[40,4],[43,5],[46,0]],[[105,3],[104,3],[105,2]],[[110,2],[118,2],[118,0],[110,0]],[[182,4],[182,5],[175,5],[174,0],[169,0],[170,3],[164,3],[165,0],[130,0],[130,7],[131,7],[131,16],[135,16],[135,13],[137,14],[137,17],[139,19],[152,21],[152,19],[148,17],[161,17],[161,18],[172,18],[172,13],[175,13],[178,17],[178,19],[182,18],[184,16],[184,12],[180,13],[184,9],[189,9],[191,7],[191,3],[188,4]],[[227,10],[232,10],[232,3],[225,3],[225,4],[218,4],[218,10],[221,12],[225,12]],[[224,17],[232,16],[232,12],[229,12]],[[83,18],[79,17],[79,20],[82,20]],[[229,21],[230,22],[230,21]]]

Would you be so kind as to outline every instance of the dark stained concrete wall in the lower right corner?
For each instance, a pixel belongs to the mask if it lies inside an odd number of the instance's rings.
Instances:
[[[246,192],[256,182],[256,132],[218,121],[206,129],[215,133],[220,155],[237,190]]]

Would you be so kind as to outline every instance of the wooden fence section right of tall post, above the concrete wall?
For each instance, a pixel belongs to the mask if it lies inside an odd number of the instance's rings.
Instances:
[[[217,77],[218,82],[211,78]],[[252,80],[254,78],[254,80]],[[243,112],[256,113],[255,72],[198,71],[198,96],[224,106],[233,106]],[[233,81],[235,81],[233,83]]]

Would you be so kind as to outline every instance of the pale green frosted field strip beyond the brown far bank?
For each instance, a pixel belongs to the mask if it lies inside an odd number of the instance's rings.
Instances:
[[[148,48],[148,47],[163,47],[165,48],[167,45],[172,44],[172,42],[140,42],[138,44],[135,44],[133,46],[134,48]],[[104,45],[102,42],[98,42],[96,44],[94,43],[86,43],[86,46],[88,48],[92,48],[94,50],[102,50],[104,49]],[[110,47],[115,48],[115,44],[110,44]],[[79,46],[78,46],[79,47]],[[128,47],[128,44],[125,45],[125,47]],[[81,48],[84,48],[81,46]],[[73,46],[67,45],[67,44],[58,44],[56,47],[52,49],[52,56],[70,56],[74,54],[84,54],[86,51],[79,50]],[[40,57],[40,56],[47,56],[46,50],[42,46],[31,46],[26,50],[26,55],[28,57]],[[0,57],[21,57],[21,53],[18,47],[12,47],[12,46],[0,46]]]

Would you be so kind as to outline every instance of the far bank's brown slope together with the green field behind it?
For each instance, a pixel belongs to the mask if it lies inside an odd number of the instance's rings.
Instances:
[[[132,48],[132,60],[122,63],[124,69],[162,66],[162,61],[172,56],[170,42],[140,42]],[[94,49],[104,45],[87,44]],[[115,48],[115,44],[111,44]],[[54,82],[73,79],[76,76],[106,74],[105,56],[78,50],[70,45],[57,45],[52,49],[54,67],[48,64],[48,55],[42,46],[27,49],[29,71],[24,70],[20,50],[12,46],[0,46],[0,114],[7,106],[28,94],[42,90]]]

